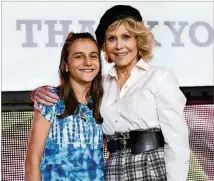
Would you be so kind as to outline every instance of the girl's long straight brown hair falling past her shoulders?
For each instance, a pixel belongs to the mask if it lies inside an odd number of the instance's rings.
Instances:
[[[79,39],[89,39],[93,41],[96,45],[97,42],[90,33],[69,33],[61,52],[61,59],[59,65],[59,76],[61,80],[60,86],[57,88],[59,91],[59,97],[64,101],[65,110],[61,115],[58,115],[59,118],[64,118],[72,114],[77,114],[79,109],[79,102],[76,98],[75,92],[70,84],[70,75],[69,72],[66,72],[65,65],[68,63],[69,48],[76,40]],[[100,50],[99,50],[99,62],[100,70],[98,75],[94,78],[91,84],[87,95],[90,95],[93,101],[93,114],[95,120],[98,124],[102,123],[102,117],[100,115],[100,104],[103,97],[103,86],[102,86],[102,74],[101,74],[101,59],[100,59]]]

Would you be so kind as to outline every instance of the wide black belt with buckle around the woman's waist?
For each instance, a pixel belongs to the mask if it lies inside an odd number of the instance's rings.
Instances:
[[[132,154],[139,154],[164,147],[164,144],[162,132],[131,131],[129,132],[129,139],[125,139],[122,133],[117,134],[115,139],[107,142],[107,147],[110,153],[131,148]]]

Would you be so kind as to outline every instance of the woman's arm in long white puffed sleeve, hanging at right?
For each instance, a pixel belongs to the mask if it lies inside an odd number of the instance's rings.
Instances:
[[[159,83],[155,96],[165,139],[167,181],[186,181],[190,159],[188,127],[183,115],[186,98],[170,72],[164,72]]]

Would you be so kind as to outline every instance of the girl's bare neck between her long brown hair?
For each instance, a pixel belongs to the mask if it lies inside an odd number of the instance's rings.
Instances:
[[[79,83],[73,80],[70,80],[72,89],[74,90],[77,101],[82,104],[87,104],[88,102],[88,92],[91,88],[91,83]]]

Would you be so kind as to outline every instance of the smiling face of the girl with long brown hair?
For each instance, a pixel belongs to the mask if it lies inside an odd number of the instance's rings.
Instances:
[[[66,71],[72,81],[91,83],[100,69],[97,45],[90,39],[75,40],[69,48]]]

